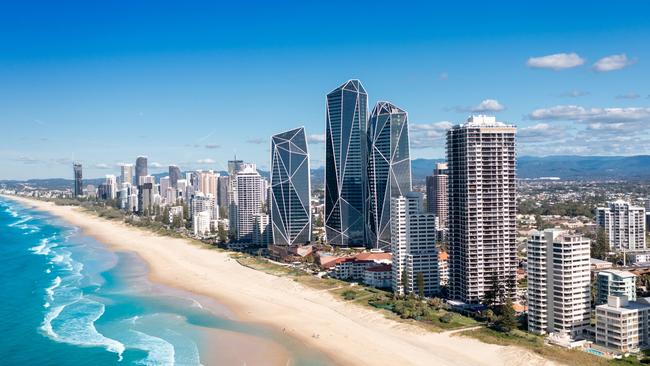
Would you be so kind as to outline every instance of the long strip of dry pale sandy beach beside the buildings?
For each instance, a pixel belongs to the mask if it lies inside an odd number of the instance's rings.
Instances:
[[[154,282],[208,296],[237,318],[284,329],[346,365],[554,365],[524,349],[432,333],[335,299],[328,292],[239,265],[227,253],[162,237],[69,206],[7,196],[138,254]],[[318,337],[314,337],[317,334]]]

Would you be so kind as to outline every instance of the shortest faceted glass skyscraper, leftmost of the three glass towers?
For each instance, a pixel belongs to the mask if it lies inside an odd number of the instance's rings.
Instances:
[[[273,243],[311,241],[311,181],[303,127],[271,137],[271,222]]]

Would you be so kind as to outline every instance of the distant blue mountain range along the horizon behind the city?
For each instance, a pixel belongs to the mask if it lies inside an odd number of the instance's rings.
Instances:
[[[443,159],[415,159],[411,162],[413,183],[424,183],[425,177],[430,175],[436,163]],[[225,172],[221,172],[225,174]],[[260,171],[262,176],[268,177],[269,173]],[[166,173],[154,174],[157,178]],[[650,179],[650,155],[637,156],[521,156],[517,159],[517,176],[521,179],[535,179],[542,177],[558,177],[564,180],[605,180]],[[325,168],[312,169],[312,182],[314,187],[322,187],[325,179]],[[99,185],[103,178],[84,179],[84,185]],[[0,180],[0,184],[7,187],[20,187],[29,185],[46,189],[62,189],[72,187],[72,179],[50,178],[29,180]]]

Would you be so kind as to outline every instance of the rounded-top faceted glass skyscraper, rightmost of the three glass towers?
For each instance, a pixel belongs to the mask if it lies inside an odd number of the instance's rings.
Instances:
[[[390,249],[390,199],[411,191],[408,115],[379,102],[368,122],[366,231],[368,244]]]

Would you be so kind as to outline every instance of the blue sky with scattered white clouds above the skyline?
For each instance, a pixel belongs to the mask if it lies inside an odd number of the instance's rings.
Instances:
[[[305,126],[323,164],[325,95],[360,79],[409,112],[411,155],[442,157],[471,113],[520,155],[650,153],[650,3],[0,3],[0,179],[269,165]],[[554,55],[554,56],[552,56]]]

